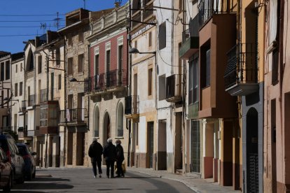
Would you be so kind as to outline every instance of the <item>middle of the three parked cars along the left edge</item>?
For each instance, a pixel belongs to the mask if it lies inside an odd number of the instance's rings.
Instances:
[[[0,148],[4,150],[6,157],[8,157],[8,161],[11,163],[13,179],[16,180],[17,183],[24,183],[25,163],[18,152],[14,138],[9,134],[0,134]]]

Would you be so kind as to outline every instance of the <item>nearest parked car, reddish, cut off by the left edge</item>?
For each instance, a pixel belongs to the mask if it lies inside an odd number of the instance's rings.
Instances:
[[[13,184],[13,169],[8,157],[0,148],[0,187],[4,192],[10,192]]]

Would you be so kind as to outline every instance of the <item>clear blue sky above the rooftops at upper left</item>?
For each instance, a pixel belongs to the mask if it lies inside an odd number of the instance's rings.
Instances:
[[[85,0],[88,10],[112,8],[116,0]],[[122,0],[122,5],[128,0]],[[64,26],[64,14],[83,8],[83,0],[8,0],[0,6],[0,50],[22,52],[23,41],[34,39],[47,30],[56,31],[55,19],[60,14],[60,28]],[[25,21],[25,22],[24,22]],[[46,26],[43,29],[41,26]]]

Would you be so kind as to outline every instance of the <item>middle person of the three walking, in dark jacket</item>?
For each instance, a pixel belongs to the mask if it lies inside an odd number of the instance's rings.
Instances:
[[[110,168],[111,168],[111,178],[114,178],[113,176],[113,164],[116,161],[117,157],[117,150],[116,146],[113,145],[112,139],[108,138],[107,140],[108,144],[104,147],[104,159],[106,160],[106,178],[109,178]]]

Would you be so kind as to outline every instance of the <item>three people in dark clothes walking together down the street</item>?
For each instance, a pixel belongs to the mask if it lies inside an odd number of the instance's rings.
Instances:
[[[97,168],[99,171],[99,178],[102,178],[102,155],[104,161],[106,162],[106,178],[110,177],[111,168],[111,178],[123,178],[125,177],[123,170],[124,150],[119,139],[116,140],[116,146],[113,145],[113,140],[108,138],[107,144],[102,147],[100,143],[97,142],[97,138],[92,139],[92,144],[90,145],[88,155],[92,162],[92,172],[94,173],[94,178],[97,177]],[[117,176],[114,176],[114,165],[116,162]]]

